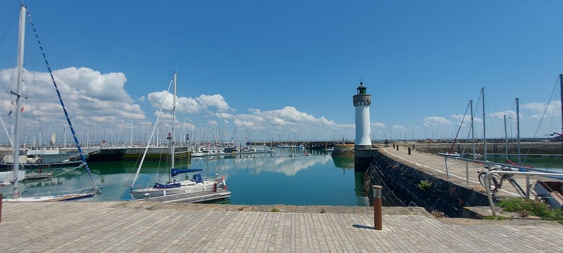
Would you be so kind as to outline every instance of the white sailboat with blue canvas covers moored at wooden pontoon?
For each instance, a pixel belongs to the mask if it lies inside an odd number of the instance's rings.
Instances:
[[[190,172],[194,172],[194,171],[202,171],[203,170],[203,169],[176,169],[176,168],[174,168],[174,147],[175,147],[174,127],[175,127],[175,119],[176,119],[176,79],[177,79],[177,73],[175,72],[174,76],[173,76],[174,98],[173,98],[173,105],[172,105],[172,134],[169,137],[169,139],[171,139],[170,154],[169,155],[171,157],[170,173],[171,173],[172,178],[175,177],[178,174],[190,173]],[[162,106],[164,106],[164,102],[163,102]],[[162,111],[162,107],[160,107],[160,111]],[[160,117],[160,114],[157,116],[157,122],[158,122],[159,117]],[[156,127],[156,124],[155,124],[155,127]],[[167,184],[155,183],[154,186],[150,187],[150,188],[133,189],[133,186],[135,186],[135,181],[138,178],[138,174],[141,171],[141,166],[142,166],[142,163],[145,159],[146,151],[149,148],[150,141],[153,138],[153,134],[154,134],[154,128],[153,128],[153,133],[151,133],[149,142],[147,143],[147,146],[145,148],[145,153],[143,154],[143,156],[141,158],[141,162],[138,166],[135,178],[133,179],[133,183],[131,184],[131,187],[130,187],[131,197],[133,198],[133,200],[145,198],[146,196],[159,197],[159,196],[169,196],[169,195],[175,195],[175,194],[187,193],[187,192],[194,192],[194,191],[203,191],[203,190],[207,190],[207,189],[212,189],[213,187],[224,187],[226,189],[225,177],[219,178],[218,173],[215,174],[215,178],[202,177],[201,174],[194,174],[193,177],[190,180],[181,180],[181,181],[177,182],[176,179],[173,179],[172,182],[167,183]]]

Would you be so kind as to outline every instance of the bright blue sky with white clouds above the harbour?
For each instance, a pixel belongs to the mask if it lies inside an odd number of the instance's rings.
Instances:
[[[6,125],[15,110],[19,4],[0,2]],[[515,98],[522,137],[561,132],[561,1],[25,4],[79,138],[128,140],[131,121],[135,140],[150,134],[162,102],[172,105],[164,92],[171,70],[176,129],[202,141],[354,139],[360,78],[372,94],[372,139],[453,138],[463,115],[458,139],[466,139],[470,100],[480,137],[481,87],[488,137],[504,136],[503,114],[516,137]],[[61,142],[64,117],[26,25],[25,138],[42,129]],[[171,125],[171,111],[163,112],[161,136]]]

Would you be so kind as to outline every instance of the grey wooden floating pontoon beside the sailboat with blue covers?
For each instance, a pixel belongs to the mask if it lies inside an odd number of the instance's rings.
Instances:
[[[199,203],[211,200],[220,200],[231,196],[231,192],[225,191],[222,188],[217,188],[214,192],[212,189],[205,191],[186,192],[175,195],[160,196],[149,198],[150,202],[163,202],[163,203]],[[145,201],[142,199],[135,201]]]

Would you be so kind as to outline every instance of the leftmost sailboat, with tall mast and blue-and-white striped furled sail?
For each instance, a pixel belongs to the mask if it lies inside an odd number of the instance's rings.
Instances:
[[[21,98],[23,98],[23,96],[21,96],[22,94],[22,87],[23,87],[23,73],[24,73],[24,64],[23,64],[23,60],[24,60],[24,38],[25,38],[25,17],[26,17],[26,11],[27,8],[24,5],[21,5],[20,7],[20,22],[19,22],[19,40],[18,40],[18,55],[17,55],[17,91],[16,92],[12,92],[16,95],[16,109],[19,109],[22,107],[22,101]],[[29,14],[28,14],[29,15]],[[33,22],[32,22],[33,25]],[[35,30],[35,28],[34,28]],[[37,36],[37,33],[35,33],[35,35]],[[37,38],[37,40],[39,41],[39,38]],[[45,62],[47,63],[47,57],[45,56],[45,53],[43,51],[43,48],[41,46],[41,43],[39,43],[39,47],[41,47],[41,51],[43,52],[43,58],[45,59]],[[14,161],[12,162],[12,173],[10,174],[10,183],[12,184],[12,187],[14,189],[13,194],[12,194],[12,198],[3,198],[2,201],[5,202],[20,202],[20,201],[72,201],[72,200],[87,200],[87,199],[91,199],[93,197],[95,197],[96,195],[100,195],[101,194],[101,190],[99,187],[96,186],[96,182],[94,181],[94,178],[92,176],[92,173],[90,171],[90,168],[88,167],[88,164],[86,163],[86,157],[84,157],[84,154],[82,153],[82,148],[80,147],[80,144],[78,143],[78,138],[76,137],[76,133],[74,132],[74,128],[72,123],[70,123],[70,118],[68,115],[68,112],[66,111],[65,105],[62,102],[62,98],[61,98],[61,94],[59,92],[59,88],[57,88],[57,84],[55,82],[55,79],[53,78],[53,75],[51,73],[51,68],[49,67],[48,63],[47,63],[47,68],[49,70],[49,73],[51,74],[51,79],[53,81],[53,85],[55,86],[55,89],[57,91],[57,94],[59,96],[59,101],[61,103],[62,106],[62,110],[65,112],[66,115],[66,121],[68,122],[69,126],[70,126],[70,130],[72,131],[72,134],[74,136],[74,141],[76,142],[77,148],[78,148],[78,152],[79,155],[81,156],[81,160],[82,160],[82,165],[84,166],[84,168],[86,169],[86,171],[88,171],[88,174],[90,174],[90,179],[92,179],[92,183],[93,183],[93,187],[92,188],[84,188],[82,189],[82,191],[78,192],[78,193],[69,193],[69,194],[56,194],[53,193],[51,194],[51,192],[49,192],[49,194],[47,196],[20,196],[20,189],[19,189],[19,181],[20,181],[20,177],[21,177],[21,173],[20,173],[20,128],[21,128],[21,123],[20,123],[20,110],[15,110],[15,124],[14,124],[14,142],[12,144],[12,149],[13,149],[13,153],[14,153]]]

